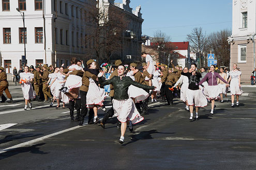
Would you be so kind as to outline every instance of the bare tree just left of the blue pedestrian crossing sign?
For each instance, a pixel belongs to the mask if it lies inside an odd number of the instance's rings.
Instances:
[[[187,40],[190,43],[190,47],[192,52],[197,54],[197,58],[199,59],[199,67],[206,66],[207,58],[206,58],[206,43],[208,37],[206,36],[206,32],[203,31],[202,27],[196,27],[192,29],[192,32],[187,35]]]

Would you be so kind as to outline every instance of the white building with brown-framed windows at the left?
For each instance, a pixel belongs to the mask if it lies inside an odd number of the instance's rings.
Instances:
[[[11,73],[21,66],[24,33],[19,8],[24,12],[26,65],[65,66],[71,57],[83,59],[89,47],[84,43],[91,27],[87,11],[96,8],[94,0],[0,0],[0,65]]]

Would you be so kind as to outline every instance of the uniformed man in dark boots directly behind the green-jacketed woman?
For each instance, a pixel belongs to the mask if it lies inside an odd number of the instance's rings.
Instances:
[[[121,60],[115,61],[116,70],[114,70],[114,72],[110,75],[110,77],[109,77],[110,79],[113,78],[114,76],[118,76],[117,67],[121,64],[122,64]],[[111,97],[111,104],[112,104],[112,100],[114,98],[114,88],[113,88],[112,84],[110,84],[109,96]],[[102,128],[105,128],[105,124],[106,124],[107,120],[109,119],[109,117],[112,117],[113,115],[114,115],[114,109],[113,109],[113,104],[112,104],[111,109],[108,110],[108,112],[106,114],[104,114],[104,117],[103,117],[102,121],[100,122],[100,126]],[[120,128],[120,127],[121,127],[121,122],[117,121],[117,128]]]

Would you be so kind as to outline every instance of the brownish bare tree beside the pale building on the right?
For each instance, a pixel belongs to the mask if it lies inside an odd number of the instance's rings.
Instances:
[[[219,66],[229,66],[230,64],[230,45],[227,39],[231,34],[230,29],[223,29],[208,36],[207,48],[215,54]]]

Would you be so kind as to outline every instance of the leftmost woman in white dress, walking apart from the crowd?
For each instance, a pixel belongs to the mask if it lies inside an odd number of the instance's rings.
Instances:
[[[35,92],[32,87],[34,74],[28,72],[28,66],[24,67],[24,72],[20,73],[20,83],[23,96],[25,98],[24,110],[27,110],[27,103],[29,104],[29,109],[32,109],[31,99],[35,98]]]

